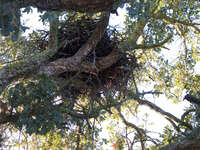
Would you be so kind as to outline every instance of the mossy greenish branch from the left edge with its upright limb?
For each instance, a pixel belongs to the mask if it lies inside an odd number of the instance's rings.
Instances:
[[[0,89],[3,90],[14,80],[37,73],[39,66],[57,52],[57,27],[58,18],[55,18],[50,25],[49,47],[47,50],[0,69]]]

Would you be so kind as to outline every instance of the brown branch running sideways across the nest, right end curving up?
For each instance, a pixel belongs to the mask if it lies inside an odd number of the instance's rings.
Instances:
[[[80,58],[73,59],[74,57],[61,58],[58,61],[49,63],[48,65],[42,66],[40,68],[41,73],[47,73],[49,75],[58,75],[63,72],[71,71],[83,71],[83,72],[93,72],[98,73],[101,70],[104,70],[113,64],[115,64],[120,57],[120,53],[116,50],[113,50],[108,56],[99,58],[96,63],[91,63],[88,61],[83,61],[76,63]]]

